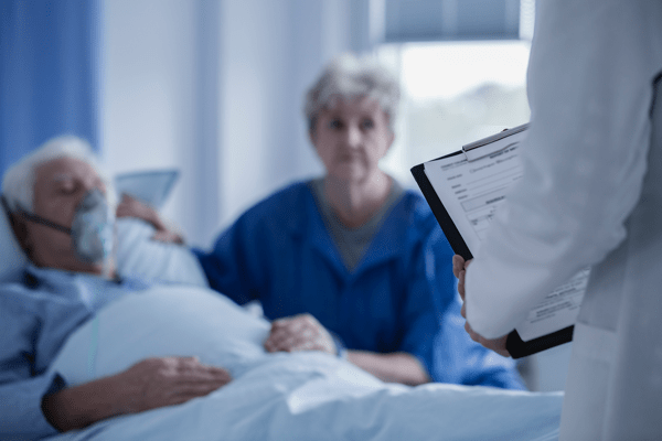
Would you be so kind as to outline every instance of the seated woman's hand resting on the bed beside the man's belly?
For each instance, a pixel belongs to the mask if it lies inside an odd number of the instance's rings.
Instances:
[[[329,331],[310,314],[298,314],[271,322],[265,342],[268,352],[322,351],[335,355],[338,348]]]

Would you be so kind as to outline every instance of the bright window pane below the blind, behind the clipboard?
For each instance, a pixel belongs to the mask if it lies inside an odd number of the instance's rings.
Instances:
[[[413,165],[527,122],[528,50],[524,40],[382,45],[377,57],[402,85],[383,169],[414,186]]]

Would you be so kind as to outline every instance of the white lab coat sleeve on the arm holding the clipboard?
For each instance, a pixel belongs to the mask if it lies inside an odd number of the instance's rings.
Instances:
[[[524,175],[467,271],[468,321],[485,337],[512,331],[542,297],[624,238],[650,139],[647,34],[659,26],[641,4],[536,4]]]

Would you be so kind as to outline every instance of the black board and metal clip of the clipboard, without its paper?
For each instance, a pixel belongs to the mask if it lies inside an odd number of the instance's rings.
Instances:
[[[528,127],[528,125],[522,125],[522,126],[517,126],[512,129],[504,130],[500,133],[496,133],[491,137],[483,138],[476,142],[463,146],[461,150],[458,150],[458,151],[449,153],[447,155],[437,158],[436,160],[433,160],[429,162],[448,159],[448,158],[452,158],[452,157],[458,157],[458,155],[463,155],[463,158],[467,161],[471,162],[471,161],[479,160],[480,158],[483,158],[485,155],[494,154],[498,151],[504,150],[505,148],[508,148],[509,143],[501,142],[501,146],[499,146],[498,149],[490,148],[490,146],[494,146],[495,141],[504,140],[509,136],[520,133],[520,132],[526,130],[527,127]],[[467,243],[465,241],[465,238],[458,230],[455,222],[452,220],[448,211],[441,203],[441,200],[439,198],[437,191],[430,183],[430,181],[425,172],[425,163],[413,166],[410,169],[410,172],[414,175],[414,180],[418,184],[420,191],[423,192],[425,200],[427,201],[428,205],[430,206],[433,214],[437,218],[439,226],[444,230],[444,234],[446,235],[446,238],[448,239],[448,243],[450,244],[453,252],[461,256],[465,260],[472,259],[473,255],[469,250],[469,247],[468,247]],[[552,348],[554,346],[558,346],[560,344],[572,342],[574,327],[575,327],[574,325],[566,326],[566,327],[563,327],[555,332],[552,332],[552,333],[548,333],[543,336],[532,338],[528,341],[523,341],[522,337],[520,336],[520,333],[516,330],[513,330],[508,335],[508,338],[505,342],[505,347],[513,358],[522,358],[522,357],[533,355],[535,353]]]

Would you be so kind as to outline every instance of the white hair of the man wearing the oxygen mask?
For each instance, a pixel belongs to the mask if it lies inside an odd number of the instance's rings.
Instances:
[[[106,185],[108,203],[110,206],[115,206],[116,195],[110,180],[102,170],[89,143],[82,138],[64,135],[44,142],[4,173],[4,178],[2,179],[2,195],[11,212],[22,208],[32,213],[36,169],[46,162],[60,158],[74,158],[89,164]]]

